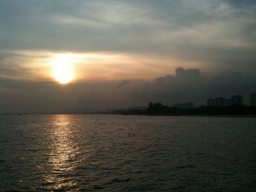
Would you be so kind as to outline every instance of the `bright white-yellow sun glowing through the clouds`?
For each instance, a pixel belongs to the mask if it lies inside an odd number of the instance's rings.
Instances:
[[[68,84],[75,75],[73,73],[74,58],[72,55],[56,55],[52,61],[52,76],[60,84]]]

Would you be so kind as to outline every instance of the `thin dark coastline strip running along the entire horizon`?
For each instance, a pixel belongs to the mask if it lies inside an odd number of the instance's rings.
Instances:
[[[147,115],[147,116],[199,116],[199,117],[231,117],[231,118],[256,118],[256,107],[246,105],[232,105],[228,107],[201,106],[199,108],[168,107],[160,102],[148,104],[145,108],[116,109],[98,112],[73,112],[73,113],[1,113],[9,115],[34,115],[34,114],[120,114],[120,115]]]

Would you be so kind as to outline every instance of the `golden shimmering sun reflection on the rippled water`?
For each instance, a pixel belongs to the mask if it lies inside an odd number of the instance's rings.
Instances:
[[[68,115],[56,115],[50,131],[49,170],[44,175],[46,188],[72,189],[77,185],[73,171],[79,163],[72,119]]]

